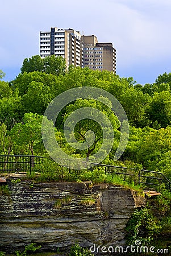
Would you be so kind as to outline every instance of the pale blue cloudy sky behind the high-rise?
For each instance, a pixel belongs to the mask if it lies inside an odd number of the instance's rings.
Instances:
[[[15,79],[40,31],[73,28],[112,42],[119,76],[152,83],[171,72],[170,13],[170,0],[1,0],[0,69]]]

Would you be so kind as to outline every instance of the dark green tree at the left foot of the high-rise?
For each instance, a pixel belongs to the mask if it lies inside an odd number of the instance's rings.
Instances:
[[[65,68],[66,61],[61,56],[55,57],[55,55],[51,55],[41,59],[39,55],[35,55],[29,59],[24,59],[21,72],[23,74],[24,72],[39,71],[59,76],[64,75]]]

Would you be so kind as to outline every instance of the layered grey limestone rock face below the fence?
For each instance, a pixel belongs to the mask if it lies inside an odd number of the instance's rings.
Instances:
[[[124,245],[124,228],[134,212],[130,189],[108,184],[18,183],[7,180],[10,195],[0,199],[0,251],[29,243],[42,250]],[[99,254],[98,254],[99,255]]]

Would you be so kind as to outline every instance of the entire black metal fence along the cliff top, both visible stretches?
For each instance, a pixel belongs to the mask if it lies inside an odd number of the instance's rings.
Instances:
[[[43,156],[32,155],[0,155],[0,173],[11,172],[31,172],[39,170],[40,164],[44,163]],[[50,159],[52,160],[52,159]],[[85,165],[86,166],[86,165]],[[171,189],[171,182],[161,172],[148,170],[136,170],[134,168],[109,166],[106,164],[89,164],[89,169],[103,167],[107,175],[119,176],[122,180],[135,184],[144,184],[149,187],[165,184],[165,187]],[[67,168],[67,167],[65,167]]]

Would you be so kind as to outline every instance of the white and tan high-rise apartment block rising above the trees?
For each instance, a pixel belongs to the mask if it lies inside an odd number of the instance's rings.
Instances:
[[[112,43],[98,43],[95,35],[82,35],[71,28],[52,27],[40,31],[40,56],[62,56],[69,65],[116,72],[116,50]]]

